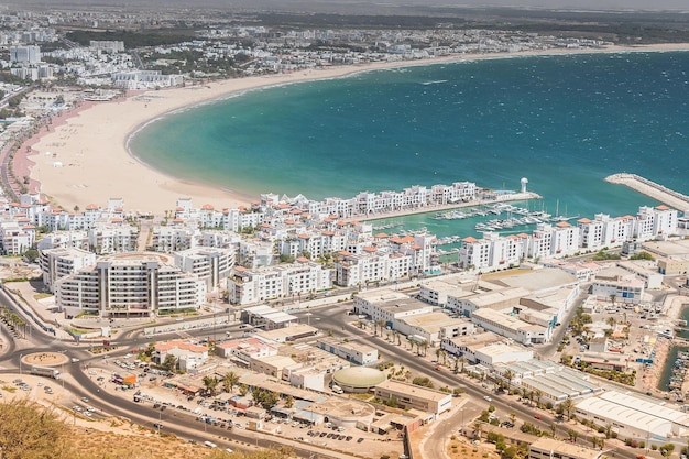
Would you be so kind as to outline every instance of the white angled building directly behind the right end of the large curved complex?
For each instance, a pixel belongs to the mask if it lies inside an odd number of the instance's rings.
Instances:
[[[210,292],[225,286],[225,280],[234,265],[234,251],[210,247],[187,249],[175,252],[175,265],[206,282],[206,288]]]

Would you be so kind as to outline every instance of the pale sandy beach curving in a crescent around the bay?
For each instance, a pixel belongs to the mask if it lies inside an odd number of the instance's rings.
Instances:
[[[50,130],[42,129],[19,150],[14,167],[29,167],[33,190],[46,195],[53,205],[69,210],[88,204],[106,206],[109,198],[123,198],[128,211],[162,215],[174,209],[179,197],[192,198],[195,207],[210,204],[217,209],[236,208],[258,199],[258,196],[244,196],[239,189],[228,192],[166,176],[130,155],[128,138],[146,122],[185,107],[261,87],[336,78],[363,70],[536,54],[682,50],[689,50],[689,44],[451,55],[437,59],[331,67],[139,91],[110,102],[81,107],[72,116],[64,117],[64,122],[52,125]],[[29,161],[21,157],[26,154],[26,146],[31,147]],[[230,189],[231,186],[228,185]]]

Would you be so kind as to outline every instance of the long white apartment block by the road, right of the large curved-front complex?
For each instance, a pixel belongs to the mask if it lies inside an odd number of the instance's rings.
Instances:
[[[253,304],[275,298],[306,298],[332,288],[331,271],[307,259],[289,265],[248,270],[234,266],[227,281],[232,304]]]

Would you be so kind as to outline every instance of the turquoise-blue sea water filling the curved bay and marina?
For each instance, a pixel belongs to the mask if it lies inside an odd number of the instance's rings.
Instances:
[[[321,199],[471,181],[544,196],[532,209],[633,214],[632,172],[689,194],[689,53],[458,62],[250,91],[166,116],[130,141],[175,177],[251,197]],[[199,206],[203,203],[196,203]],[[171,203],[172,205],[172,203]],[[438,236],[477,220],[397,219]]]

